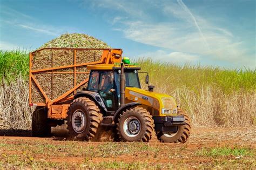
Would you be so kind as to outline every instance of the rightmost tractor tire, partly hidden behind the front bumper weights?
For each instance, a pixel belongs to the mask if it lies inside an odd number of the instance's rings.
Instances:
[[[157,132],[157,139],[160,142],[169,142],[169,143],[182,143],[184,144],[188,137],[190,137],[190,130],[191,130],[191,120],[187,116],[187,114],[178,108],[178,115],[184,115],[185,117],[185,125],[181,125],[178,127],[177,133],[174,133],[173,135],[165,135],[163,132]]]

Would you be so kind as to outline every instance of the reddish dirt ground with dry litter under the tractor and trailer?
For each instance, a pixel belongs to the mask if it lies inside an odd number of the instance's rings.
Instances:
[[[86,157],[86,152],[83,152],[83,154],[79,155],[79,151],[76,154],[73,153],[66,153],[66,151],[72,151],[71,150],[65,150],[62,151],[62,148],[58,148],[56,151],[54,151],[54,154],[51,155],[47,151],[45,153],[31,153],[33,154],[33,159],[38,161],[46,161],[46,162],[68,162],[68,165],[72,164],[80,164],[81,162],[84,162],[85,159],[89,159],[89,162],[91,164],[100,164],[102,162],[126,162],[127,164],[132,164],[133,162],[147,162],[150,165],[180,165],[181,167],[187,167],[187,168],[197,168],[201,165],[204,165],[204,167],[215,167],[213,165],[216,164],[216,161],[224,161],[223,159],[230,162],[231,165],[235,165],[232,163],[232,161],[237,161],[237,159],[244,159],[239,160],[238,165],[235,167],[244,167],[244,161],[248,164],[246,167],[253,168],[255,167],[255,163],[253,163],[253,160],[255,160],[255,153],[253,153],[252,157],[235,157],[233,155],[227,155],[225,157],[209,157],[209,156],[199,156],[197,155],[198,152],[202,151],[204,148],[219,148],[219,147],[245,147],[245,148],[251,148],[252,152],[255,152],[256,149],[256,126],[252,127],[233,127],[233,128],[224,128],[224,127],[192,127],[191,136],[188,139],[188,141],[185,144],[164,144],[160,143],[156,137],[153,137],[153,139],[146,143],[146,145],[142,145],[140,143],[130,143],[131,147],[134,147],[134,151],[127,151],[125,152],[124,148],[120,149],[120,151],[124,151],[125,154],[117,154],[119,151],[119,145],[121,147],[127,147],[130,146],[129,143],[120,143],[120,142],[109,142],[111,139],[107,138],[109,136],[108,133],[104,134],[101,138],[102,141],[98,142],[85,142],[85,141],[76,141],[75,143],[72,141],[66,141],[65,138],[57,138],[57,137],[51,137],[51,138],[34,138],[30,137],[30,131],[19,131],[18,133],[14,133],[14,131],[7,131],[2,130],[0,131],[0,144],[4,145],[12,145],[12,146],[21,146],[21,145],[29,145],[31,147],[36,147],[38,142],[40,144],[49,144],[53,145],[53,147],[59,147],[59,146],[66,146],[66,145],[74,145],[78,148],[97,148],[100,151],[99,155],[91,155],[90,157]],[[59,127],[58,127],[59,128]],[[61,128],[60,128],[61,129]],[[59,130],[59,129],[58,129]],[[58,135],[56,133],[56,130],[54,135]],[[62,133],[64,135],[65,133]],[[4,135],[4,136],[3,136]],[[11,136],[12,135],[12,136]],[[15,136],[13,136],[15,135]],[[71,142],[71,144],[70,144]],[[103,150],[102,146],[106,145],[118,145],[117,148],[113,148],[110,150]],[[140,147],[140,151],[137,151],[135,147]],[[145,151],[142,149],[145,148]],[[152,151],[147,148],[150,147]],[[154,149],[159,149],[159,151],[154,151]],[[92,150],[94,151],[94,150]],[[24,151],[23,151],[24,152]],[[17,149],[9,149],[8,147],[0,148],[0,153],[4,153],[4,155],[12,155],[12,154],[18,154],[21,155],[23,152],[21,152],[21,149],[17,147]],[[30,151],[25,151],[30,152]],[[63,153],[64,152],[64,153]],[[102,152],[102,153],[101,153]],[[105,153],[107,152],[107,153]],[[97,154],[98,152],[95,152]],[[59,157],[56,157],[56,154],[59,155]],[[64,154],[64,155],[63,155]],[[77,155],[78,154],[78,155]],[[85,155],[84,155],[85,154]],[[104,156],[106,154],[106,156]],[[46,155],[46,156],[45,156]],[[167,159],[163,159],[167,157]],[[247,160],[248,159],[248,160]],[[251,161],[251,162],[250,162]],[[1,162],[1,160],[0,160]],[[250,164],[248,163],[250,162]],[[228,164],[227,164],[228,165]],[[69,166],[68,166],[69,167]],[[97,166],[96,166],[97,167]],[[221,167],[221,166],[220,166]],[[224,166],[225,167],[225,166]],[[178,167],[180,168],[180,167]]]

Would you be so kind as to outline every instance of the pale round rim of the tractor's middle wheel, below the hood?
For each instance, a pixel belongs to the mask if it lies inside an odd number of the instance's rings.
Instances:
[[[136,117],[129,117],[124,121],[123,130],[128,137],[136,137],[141,129],[139,119]]]

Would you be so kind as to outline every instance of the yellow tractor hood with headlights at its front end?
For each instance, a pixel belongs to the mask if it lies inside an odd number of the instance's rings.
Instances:
[[[160,116],[177,114],[177,104],[172,96],[150,92],[137,87],[125,87],[125,98],[158,110]]]

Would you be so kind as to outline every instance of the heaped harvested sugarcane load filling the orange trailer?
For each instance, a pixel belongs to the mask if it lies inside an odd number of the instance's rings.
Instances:
[[[51,100],[56,99],[86,79],[89,76],[86,66],[52,69],[100,61],[103,50],[93,49],[110,49],[110,46],[102,40],[82,33],[66,33],[32,52],[31,71],[35,73],[33,76],[45,96]],[[44,94],[38,89],[36,82],[32,81],[31,84],[32,103],[46,103]],[[81,86],[79,89],[82,88]]]

